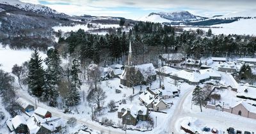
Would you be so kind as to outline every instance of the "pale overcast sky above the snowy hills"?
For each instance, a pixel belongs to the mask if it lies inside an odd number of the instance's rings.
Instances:
[[[187,10],[212,17],[255,10],[256,0],[20,0],[43,4],[68,15],[115,16],[139,19],[152,12]]]

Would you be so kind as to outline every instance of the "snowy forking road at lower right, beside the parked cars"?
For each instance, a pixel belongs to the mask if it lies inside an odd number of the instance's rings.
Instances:
[[[256,131],[255,130],[255,124],[256,121],[253,119],[248,119],[245,117],[236,117],[236,115],[232,116],[232,114],[229,113],[207,113],[207,112],[190,112],[188,108],[185,110],[184,107],[191,107],[191,103],[184,104],[186,101],[186,98],[188,98],[189,95],[191,95],[191,92],[193,89],[189,89],[182,98],[180,98],[179,105],[177,105],[177,108],[175,108],[175,111],[173,112],[172,119],[169,122],[169,128],[168,131],[169,133],[180,133],[179,129],[180,127],[175,127],[179,124],[177,122],[179,121],[180,118],[182,117],[195,117],[202,121],[202,123],[205,124],[211,124],[212,126],[216,128],[220,128],[222,130],[226,130],[228,127],[234,127],[237,128],[238,130],[249,130],[249,131]],[[190,102],[190,101],[189,101]],[[222,115],[221,115],[222,114]]]

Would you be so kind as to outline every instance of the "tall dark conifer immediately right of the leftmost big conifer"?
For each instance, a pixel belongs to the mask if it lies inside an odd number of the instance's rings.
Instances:
[[[56,107],[58,92],[56,90],[56,84],[61,80],[63,68],[60,66],[61,59],[56,49],[49,49],[47,51],[47,58],[45,64],[48,66],[45,73],[45,86],[42,100],[47,101],[51,107]]]

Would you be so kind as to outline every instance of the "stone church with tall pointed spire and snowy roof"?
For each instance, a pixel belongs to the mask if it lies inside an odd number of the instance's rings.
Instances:
[[[156,80],[156,71],[152,63],[140,64],[134,66],[132,63],[132,47],[131,41],[129,44],[129,55],[127,64],[120,77],[120,84],[127,87],[137,86],[140,84],[147,84]]]

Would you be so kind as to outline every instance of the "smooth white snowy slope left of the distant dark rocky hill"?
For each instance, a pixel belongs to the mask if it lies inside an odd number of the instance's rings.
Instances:
[[[150,16],[147,15],[145,17],[141,17],[138,20],[143,22],[155,22],[155,23],[171,22],[168,19],[163,19],[162,17],[160,17],[160,15],[150,15]]]

